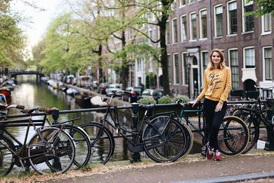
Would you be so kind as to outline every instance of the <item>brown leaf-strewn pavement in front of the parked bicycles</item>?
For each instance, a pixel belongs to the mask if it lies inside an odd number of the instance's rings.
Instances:
[[[245,155],[225,157],[220,162],[195,154],[166,164],[117,163],[96,167],[84,175],[79,173],[79,177],[49,182],[239,182],[269,176],[274,180],[273,151],[255,150]]]

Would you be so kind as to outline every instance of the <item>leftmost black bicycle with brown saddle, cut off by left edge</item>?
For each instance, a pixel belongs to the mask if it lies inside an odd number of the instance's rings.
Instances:
[[[62,128],[36,127],[37,121],[32,120],[32,117],[38,108],[24,110],[24,106],[12,104],[6,108],[6,113],[1,112],[1,114],[8,116],[11,108],[21,109],[23,113],[29,115],[29,118],[0,121],[0,175],[8,175],[14,164],[22,167],[24,171],[32,167],[40,174],[66,172],[75,158],[75,145],[71,136],[63,132]],[[25,126],[26,123],[25,138],[21,143],[7,128]],[[35,134],[27,143],[31,125]]]

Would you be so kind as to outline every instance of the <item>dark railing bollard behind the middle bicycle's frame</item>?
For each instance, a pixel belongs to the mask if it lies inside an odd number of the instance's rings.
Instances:
[[[133,129],[132,132],[138,132],[137,125],[138,125],[138,103],[132,103],[132,122],[133,122]],[[137,136],[133,136],[133,140],[136,141]],[[140,153],[132,153],[132,160],[131,162],[140,162]]]

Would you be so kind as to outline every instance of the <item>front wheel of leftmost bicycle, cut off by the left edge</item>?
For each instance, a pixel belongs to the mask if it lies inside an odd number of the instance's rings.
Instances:
[[[8,175],[14,166],[14,155],[9,148],[15,151],[12,141],[6,136],[2,136],[0,141],[0,176]]]

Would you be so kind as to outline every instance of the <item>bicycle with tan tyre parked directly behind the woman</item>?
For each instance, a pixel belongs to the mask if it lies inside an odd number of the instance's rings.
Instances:
[[[182,99],[177,100],[176,103],[182,106],[177,121],[190,125],[193,129],[192,132],[198,132],[198,134],[203,138],[203,145],[206,145],[208,142],[208,131],[203,117],[201,103],[198,103],[199,107],[195,110],[185,110],[190,104],[183,103]],[[199,127],[196,127],[194,123],[188,119],[184,112],[198,113]],[[203,118],[203,125],[201,125],[201,116]],[[223,119],[218,134],[218,145],[222,154],[226,156],[236,156],[242,153],[242,151],[244,151],[247,147],[247,143],[249,142],[248,140],[249,129],[244,121],[234,116],[227,116]]]

